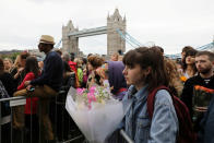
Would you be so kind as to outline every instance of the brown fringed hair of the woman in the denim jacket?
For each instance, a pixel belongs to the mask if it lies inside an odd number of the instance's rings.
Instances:
[[[169,80],[164,64],[164,57],[158,48],[140,47],[130,50],[124,55],[122,61],[130,68],[134,68],[136,64],[141,69],[151,67],[152,71],[145,79],[150,92],[159,85],[168,86]]]

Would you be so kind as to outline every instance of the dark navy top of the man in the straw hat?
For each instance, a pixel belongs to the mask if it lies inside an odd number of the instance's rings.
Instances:
[[[46,55],[44,60],[44,69],[41,75],[33,81],[31,81],[32,85],[48,85],[56,92],[62,85],[63,80],[63,64],[62,59],[59,53],[55,51],[50,51]]]

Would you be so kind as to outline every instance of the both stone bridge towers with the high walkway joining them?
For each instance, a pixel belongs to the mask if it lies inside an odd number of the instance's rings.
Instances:
[[[107,26],[96,27],[91,29],[79,31],[71,21],[66,26],[62,26],[62,50],[81,55],[79,49],[79,38],[107,34],[107,57],[117,52],[119,49],[126,51],[126,41],[120,37],[117,29],[126,33],[126,17],[121,17],[118,9],[112,15],[107,16]]]

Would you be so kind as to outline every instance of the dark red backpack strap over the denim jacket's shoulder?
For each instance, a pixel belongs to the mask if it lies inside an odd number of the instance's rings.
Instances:
[[[153,118],[153,112],[154,112],[155,96],[156,96],[156,93],[159,90],[166,90],[168,92],[170,91],[168,87],[166,87],[164,85],[160,85],[160,86],[154,88],[152,92],[148,93],[148,96],[147,96],[147,114],[148,114],[148,117],[150,117],[151,120]]]

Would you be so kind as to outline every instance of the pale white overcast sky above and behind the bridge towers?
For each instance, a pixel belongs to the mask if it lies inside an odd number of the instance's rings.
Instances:
[[[106,26],[116,8],[126,15],[130,35],[142,44],[154,41],[166,53],[213,40],[214,0],[1,0],[0,50],[37,48],[43,34],[58,43],[69,20],[79,29]],[[80,49],[107,53],[106,38],[80,38]],[[131,48],[127,44],[127,50]]]

